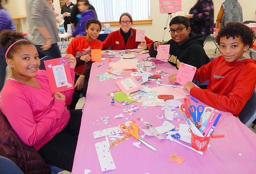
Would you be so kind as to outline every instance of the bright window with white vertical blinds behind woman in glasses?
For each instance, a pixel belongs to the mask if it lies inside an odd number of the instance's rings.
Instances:
[[[99,21],[119,21],[122,13],[128,12],[133,20],[150,19],[150,0],[89,0],[94,6]]]

